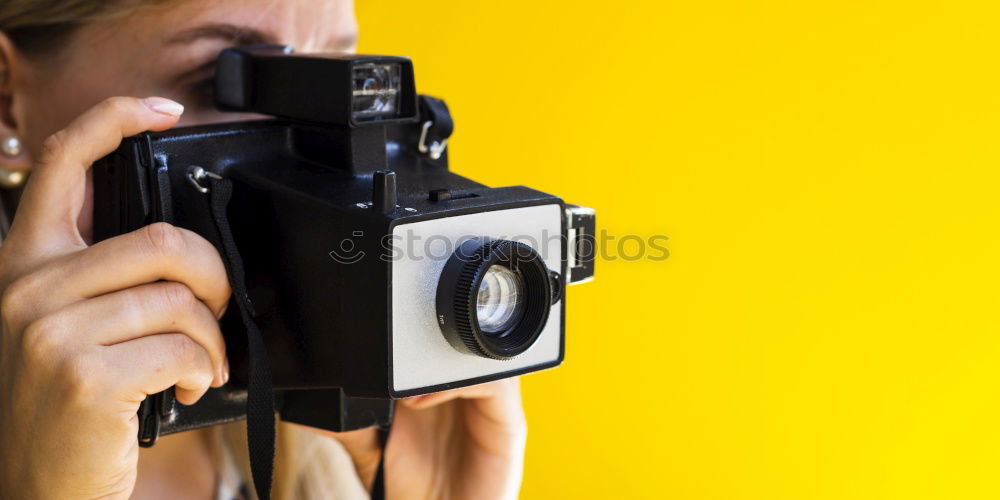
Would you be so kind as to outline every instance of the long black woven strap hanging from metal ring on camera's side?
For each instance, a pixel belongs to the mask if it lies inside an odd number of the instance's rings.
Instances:
[[[250,472],[254,489],[259,500],[271,498],[271,481],[274,472],[274,385],[271,367],[264,348],[257,322],[254,321],[253,304],[247,295],[244,282],[243,259],[236,249],[236,241],[229,229],[226,209],[233,195],[233,184],[229,179],[209,176],[211,180],[210,199],[212,219],[219,231],[222,242],[222,260],[229,274],[229,285],[233,289],[233,299],[240,309],[240,317],[247,331],[247,352],[250,357],[250,374],[247,382],[247,443],[250,448]]]

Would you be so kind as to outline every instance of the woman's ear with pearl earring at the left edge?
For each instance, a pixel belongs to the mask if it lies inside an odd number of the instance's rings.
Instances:
[[[17,154],[0,148],[0,169],[7,172],[24,172],[31,168],[31,158],[21,135],[22,124],[15,119],[19,115],[15,106],[23,100],[19,92],[23,88],[25,64],[24,57],[7,34],[0,32],[0,145],[13,140],[21,144]]]

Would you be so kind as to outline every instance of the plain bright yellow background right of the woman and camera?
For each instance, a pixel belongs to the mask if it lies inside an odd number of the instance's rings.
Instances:
[[[570,289],[524,498],[1000,498],[997,5],[359,0],[456,171],[671,238]]]

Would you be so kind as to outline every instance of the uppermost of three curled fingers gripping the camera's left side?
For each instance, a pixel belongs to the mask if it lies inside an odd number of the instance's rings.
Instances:
[[[49,311],[160,280],[183,283],[216,317],[230,295],[218,250],[201,236],[162,222],[56,259],[38,273],[33,295],[45,300]]]

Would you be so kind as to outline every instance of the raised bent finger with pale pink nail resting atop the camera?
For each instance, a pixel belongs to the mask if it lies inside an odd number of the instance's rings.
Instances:
[[[49,137],[25,187],[11,235],[60,235],[79,242],[76,223],[90,165],[114,151],[124,137],[172,127],[183,110],[160,97],[112,97]]]

